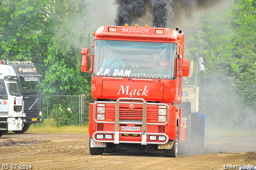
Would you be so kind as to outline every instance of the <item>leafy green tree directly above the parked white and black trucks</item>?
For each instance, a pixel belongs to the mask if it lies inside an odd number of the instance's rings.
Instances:
[[[1,59],[32,60],[44,72],[52,37],[48,0],[0,0]]]

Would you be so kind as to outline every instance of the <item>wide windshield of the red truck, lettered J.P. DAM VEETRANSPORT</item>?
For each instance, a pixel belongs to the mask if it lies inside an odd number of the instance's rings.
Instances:
[[[93,75],[174,79],[176,51],[175,43],[96,40]]]

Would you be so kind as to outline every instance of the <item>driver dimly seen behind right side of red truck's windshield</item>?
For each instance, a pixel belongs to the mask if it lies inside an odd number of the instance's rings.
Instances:
[[[169,63],[165,57],[160,57],[157,53],[154,53],[152,56],[153,60],[149,63],[147,69],[163,68],[164,70],[168,71]]]

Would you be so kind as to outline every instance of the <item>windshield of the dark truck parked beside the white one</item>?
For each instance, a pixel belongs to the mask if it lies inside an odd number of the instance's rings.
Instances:
[[[41,92],[40,79],[36,76],[20,77],[21,92]]]

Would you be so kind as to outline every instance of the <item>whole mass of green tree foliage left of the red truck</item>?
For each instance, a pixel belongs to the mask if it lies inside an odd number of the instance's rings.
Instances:
[[[90,76],[81,73],[88,44],[88,2],[83,0],[0,0],[0,56],[32,60],[49,94],[90,94]]]

